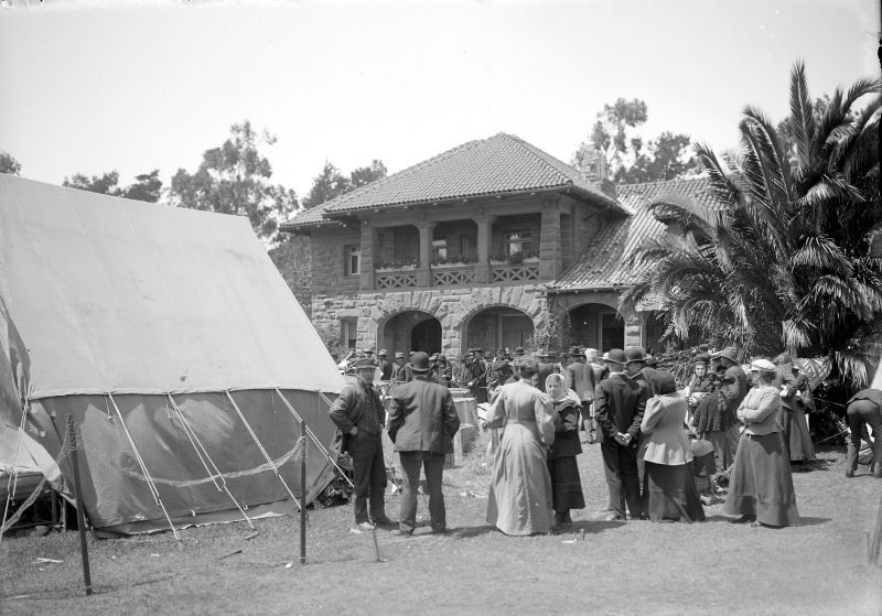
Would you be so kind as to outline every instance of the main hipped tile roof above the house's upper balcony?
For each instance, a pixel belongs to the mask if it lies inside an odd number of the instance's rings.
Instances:
[[[341,195],[325,204],[325,217],[349,212],[451,198],[530,191],[570,190],[583,198],[624,212],[615,199],[589,184],[574,169],[513,134],[463,143],[409,169]],[[297,216],[282,228],[315,224]]]

